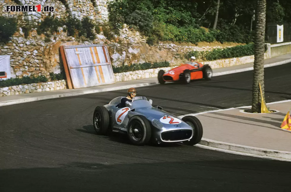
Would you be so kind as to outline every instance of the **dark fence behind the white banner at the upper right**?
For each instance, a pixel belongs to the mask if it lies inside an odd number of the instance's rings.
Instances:
[[[271,44],[279,43],[277,42],[277,25],[284,26],[283,42],[291,42],[291,24],[290,23],[268,23],[266,26],[267,43],[271,43]]]

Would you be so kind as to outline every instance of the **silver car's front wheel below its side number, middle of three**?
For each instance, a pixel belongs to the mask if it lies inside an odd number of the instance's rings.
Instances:
[[[145,117],[135,115],[129,120],[127,134],[132,144],[146,145],[151,139],[151,125]]]

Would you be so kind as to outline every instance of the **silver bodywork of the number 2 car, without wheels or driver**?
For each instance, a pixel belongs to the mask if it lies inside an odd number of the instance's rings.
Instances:
[[[127,132],[129,119],[134,115],[142,115],[151,124],[151,137],[154,137],[155,141],[182,142],[192,139],[193,128],[189,124],[163,111],[161,107],[153,107],[152,101],[148,101],[146,97],[134,97],[127,107],[118,108],[122,98],[124,97],[116,97],[109,104],[104,105],[109,113],[112,130]]]

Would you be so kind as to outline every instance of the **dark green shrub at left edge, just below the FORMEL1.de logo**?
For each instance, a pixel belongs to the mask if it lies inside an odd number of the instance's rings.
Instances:
[[[0,16],[0,42],[7,43],[17,31],[17,20]]]

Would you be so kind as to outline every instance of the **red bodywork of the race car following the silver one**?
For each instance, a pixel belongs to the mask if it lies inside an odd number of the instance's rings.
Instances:
[[[198,62],[196,62],[197,64],[199,64],[199,68],[202,68],[204,65],[200,64]],[[178,81],[180,79],[180,74],[183,73],[184,70],[189,69],[198,69],[197,67],[194,67],[190,64],[181,64],[178,67],[175,67],[173,69],[171,69],[170,71],[166,72],[165,74],[163,74],[163,79],[165,81]],[[194,79],[202,79],[203,78],[203,72],[202,71],[196,71],[196,72],[191,72],[191,80]]]

